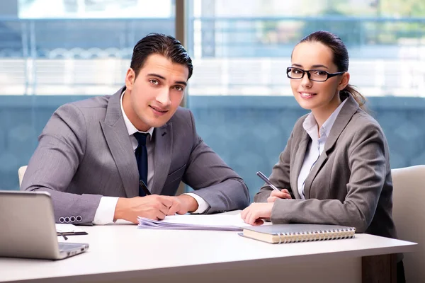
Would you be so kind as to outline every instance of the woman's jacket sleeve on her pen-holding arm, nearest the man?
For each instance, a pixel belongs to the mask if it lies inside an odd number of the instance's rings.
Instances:
[[[290,187],[290,150],[293,139],[293,133],[290,134],[288,143],[285,149],[280,153],[278,163],[273,166],[271,175],[268,178],[273,185],[279,189],[287,189],[291,195],[293,195]],[[254,202],[267,202],[267,198],[270,196],[273,189],[266,183],[261,187],[260,191],[254,196]]]

